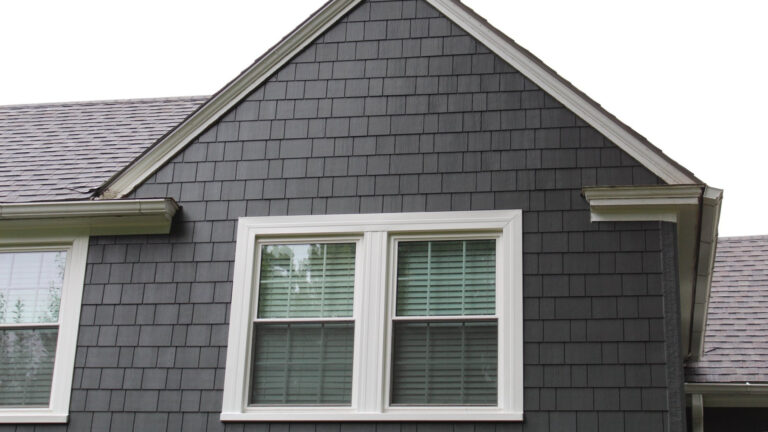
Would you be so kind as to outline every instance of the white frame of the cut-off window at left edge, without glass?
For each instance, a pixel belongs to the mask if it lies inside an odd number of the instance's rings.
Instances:
[[[64,251],[67,259],[59,306],[59,334],[51,380],[51,397],[47,407],[2,407],[2,423],[66,423],[75,368],[77,331],[83,298],[85,265],[88,258],[88,236],[48,236],[0,238],[0,253],[29,251]]]

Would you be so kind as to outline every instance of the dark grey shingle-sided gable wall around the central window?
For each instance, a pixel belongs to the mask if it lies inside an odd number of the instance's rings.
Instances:
[[[580,195],[659,183],[425,2],[364,2],[136,190],[170,235],[91,238],[70,422],[34,429],[681,430],[674,230]],[[524,213],[524,422],[219,421],[238,217],[485,209]]]

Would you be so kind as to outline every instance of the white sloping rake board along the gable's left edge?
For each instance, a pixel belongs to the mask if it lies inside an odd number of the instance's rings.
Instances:
[[[331,0],[243,71],[126,169],[102,186],[100,198],[122,198],[183,150],[361,0]]]

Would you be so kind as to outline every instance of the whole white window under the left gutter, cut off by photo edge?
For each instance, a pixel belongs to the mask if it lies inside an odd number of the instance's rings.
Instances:
[[[67,421],[87,249],[0,239],[0,423]]]

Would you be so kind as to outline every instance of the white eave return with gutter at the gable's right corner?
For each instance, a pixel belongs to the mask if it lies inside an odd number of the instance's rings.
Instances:
[[[677,224],[683,352],[701,356],[723,191],[706,185],[587,187],[593,222]]]

